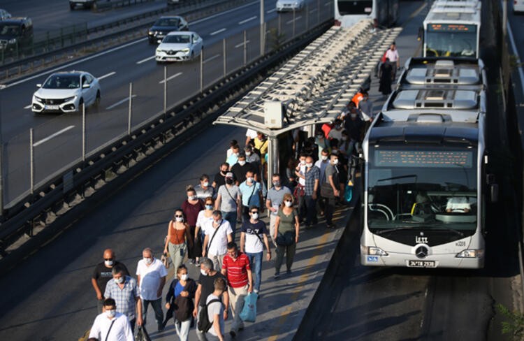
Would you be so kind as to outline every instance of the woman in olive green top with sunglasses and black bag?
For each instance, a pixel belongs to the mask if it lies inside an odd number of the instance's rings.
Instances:
[[[275,261],[275,279],[280,277],[280,268],[282,261],[284,261],[284,254],[286,254],[286,273],[291,275],[291,266],[293,266],[293,258],[296,252],[296,243],[298,242],[298,232],[300,223],[298,222],[298,215],[293,208],[293,196],[291,194],[284,194],[284,201],[280,206],[275,221],[275,232],[273,240],[277,240],[279,234],[293,233],[293,243],[291,245],[277,245],[277,260]]]

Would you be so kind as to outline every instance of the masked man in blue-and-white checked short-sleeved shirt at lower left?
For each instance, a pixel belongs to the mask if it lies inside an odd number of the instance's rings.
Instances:
[[[163,266],[163,265],[162,265]],[[135,323],[142,326],[142,300],[136,280],[125,275],[122,266],[112,267],[112,280],[105,286],[103,296],[115,300],[117,312],[126,315],[131,324],[131,331],[135,331]]]

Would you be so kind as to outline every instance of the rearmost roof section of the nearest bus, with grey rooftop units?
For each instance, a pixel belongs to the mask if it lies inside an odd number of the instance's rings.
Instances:
[[[486,70],[481,59],[414,57],[405,64],[398,88],[460,85],[486,88]]]

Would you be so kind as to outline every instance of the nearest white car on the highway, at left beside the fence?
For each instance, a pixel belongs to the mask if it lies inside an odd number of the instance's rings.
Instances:
[[[85,106],[98,106],[100,84],[91,73],[69,71],[53,73],[33,95],[34,113],[74,113]]]

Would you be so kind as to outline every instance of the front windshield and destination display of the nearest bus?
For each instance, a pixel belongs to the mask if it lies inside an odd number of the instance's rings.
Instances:
[[[475,150],[370,147],[367,226],[476,230]]]

